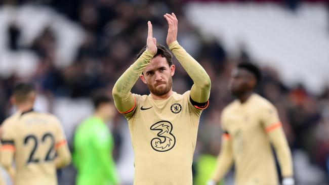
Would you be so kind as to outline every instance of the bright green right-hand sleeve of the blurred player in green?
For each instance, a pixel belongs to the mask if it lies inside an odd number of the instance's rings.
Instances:
[[[95,152],[98,154],[97,157],[99,164],[101,164],[100,167],[111,182],[118,184],[118,175],[112,157],[112,149],[110,147],[113,143],[113,139],[108,130],[100,128],[97,133],[98,134],[93,137],[93,144],[96,150]]]

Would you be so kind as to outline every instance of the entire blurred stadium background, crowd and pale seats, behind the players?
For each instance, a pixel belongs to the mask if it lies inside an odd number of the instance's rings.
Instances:
[[[166,45],[163,14],[171,12],[179,20],[178,42],[212,80],[210,106],[200,118],[193,184],[204,185],[208,178],[200,172],[202,159],[216,159],[220,152],[221,111],[233,100],[227,84],[239,62],[262,69],[257,92],[278,109],[297,184],[329,184],[326,0],[0,0],[0,121],[15,111],[10,103],[13,84],[33,81],[35,109],[58,116],[72,146],[77,125],[93,113],[93,92],[105,89],[111,94],[115,81],[146,44],[148,20],[157,42]],[[173,63],[173,90],[189,90],[193,81],[176,59]],[[141,80],[132,92],[149,94]],[[122,185],[133,184],[127,120],[116,113],[108,125]],[[59,184],[75,183],[72,165],[58,174]],[[232,170],[224,184],[234,184],[233,179]]]

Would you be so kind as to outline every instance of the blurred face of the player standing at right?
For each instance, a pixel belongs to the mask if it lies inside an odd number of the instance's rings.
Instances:
[[[235,68],[231,73],[228,88],[232,95],[239,96],[253,89],[253,75],[245,70]]]

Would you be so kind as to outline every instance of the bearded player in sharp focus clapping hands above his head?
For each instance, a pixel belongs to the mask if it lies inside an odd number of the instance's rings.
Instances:
[[[167,44],[194,84],[183,95],[173,91],[172,56],[163,45],[156,45],[149,21],[146,47],[112,91],[117,110],[129,123],[135,152],[135,185],[192,184],[199,117],[209,103],[208,74],[177,42],[175,14],[164,17],[169,24]],[[131,88],[139,77],[148,86],[149,95],[132,94]]]

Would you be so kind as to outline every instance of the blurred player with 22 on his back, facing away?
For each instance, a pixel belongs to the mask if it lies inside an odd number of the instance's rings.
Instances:
[[[2,126],[1,163],[16,185],[57,184],[56,168],[71,161],[61,123],[52,114],[33,110],[35,95],[33,84],[16,84],[11,100],[18,111]]]

